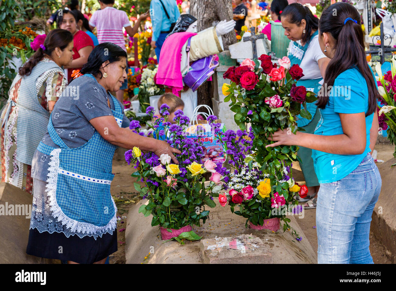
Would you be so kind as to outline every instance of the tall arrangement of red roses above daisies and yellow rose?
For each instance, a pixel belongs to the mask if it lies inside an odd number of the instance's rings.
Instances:
[[[291,177],[292,162],[300,161],[296,154],[298,146],[266,147],[273,143],[268,137],[278,129],[286,129],[289,134],[303,130],[297,126],[296,116],[311,119],[306,103],[317,100],[313,92],[295,85],[295,80],[304,76],[298,65],[290,66],[287,57],[278,59],[278,63],[280,67],[272,63],[270,56],[261,55],[258,60],[245,59],[240,67],[228,68],[223,75],[231,80],[230,84],[223,85],[223,93],[227,94],[225,102],[231,101],[230,109],[235,112],[234,120],[241,129],[219,137],[231,156],[230,164],[235,167],[234,173],[228,176],[232,182],[228,187],[238,186],[228,195],[232,197],[231,203],[242,206],[236,214],[256,226],[262,226],[264,219],[272,216],[273,208],[297,204],[294,196],[300,190]],[[251,123],[249,133],[246,123]],[[248,139],[244,138],[246,135]],[[254,152],[249,152],[252,149]],[[241,175],[247,175],[248,179],[242,179]],[[245,192],[248,195],[242,197]],[[234,198],[236,194],[238,198]],[[285,215],[278,217],[285,222],[284,230],[289,228]]]

